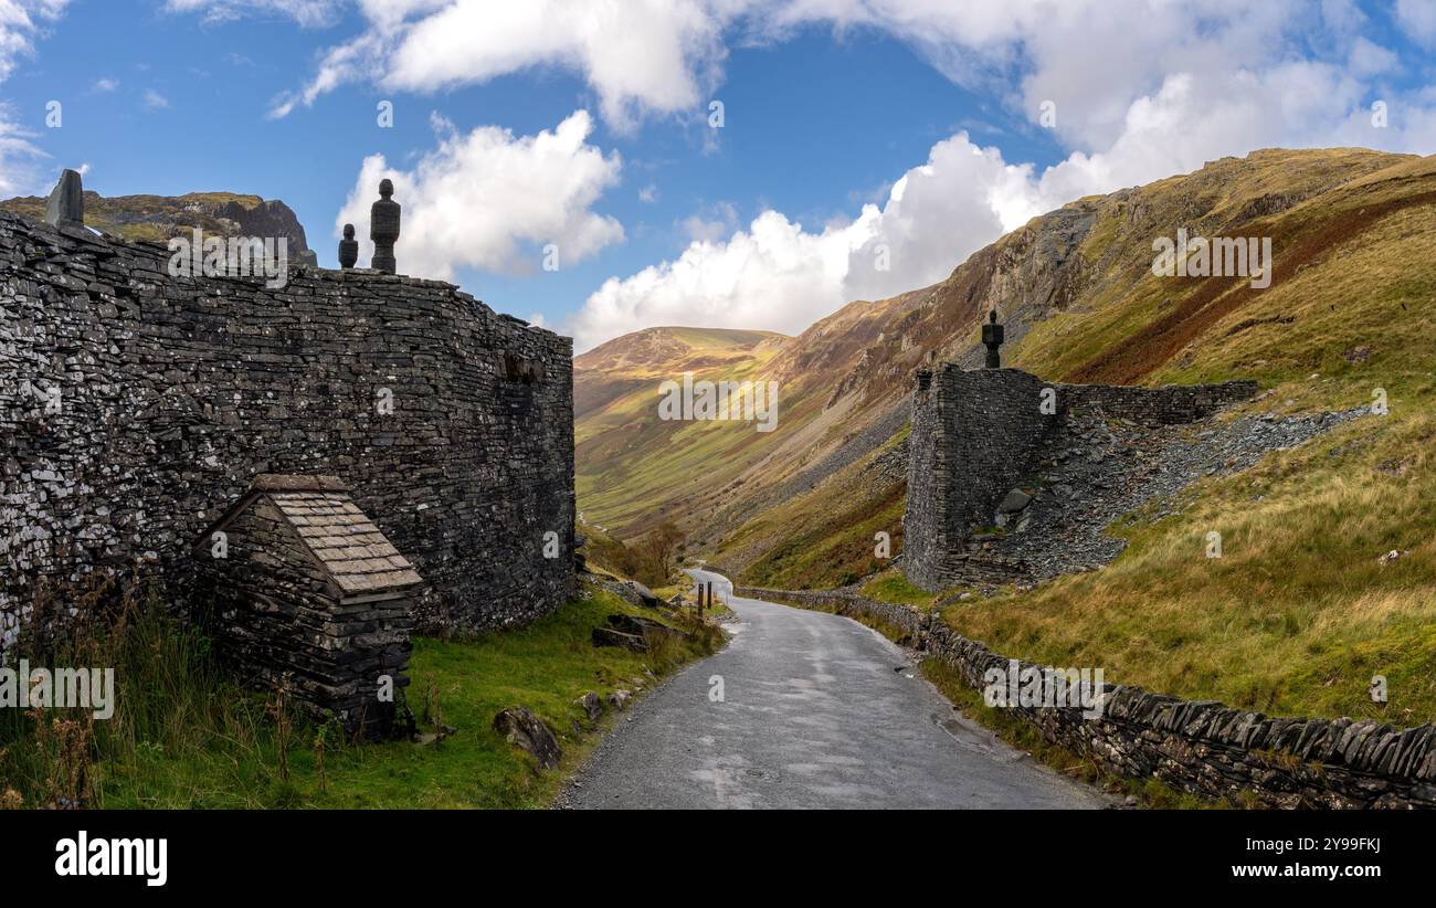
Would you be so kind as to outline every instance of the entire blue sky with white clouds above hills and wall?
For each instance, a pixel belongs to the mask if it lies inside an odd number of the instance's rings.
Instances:
[[[0,190],[83,167],[106,195],[281,198],[335,264],[337,224],[365,236],[392,175],[401,270],[579,349],[663,323],[797,332],[1223,154],[1429,154],[1433,7],[0,0]]]

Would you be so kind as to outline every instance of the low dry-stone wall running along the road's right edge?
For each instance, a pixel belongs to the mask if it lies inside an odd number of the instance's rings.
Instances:
[[[741,596],[836,611],[896,629],[903,642],[984,690],[1011,659],[955,632],[939,615],[852,590],[734,588]],[[1017,670],[1037,668],[1017,661]],[[1130,779],[1160,779],[1208,799],[1268,807],[1436,807],[1436,726],[1374,720],[1275,718],[1212,700],[1104,684],[1100,717],[1080,708],[1011,707],[1044,738]]]

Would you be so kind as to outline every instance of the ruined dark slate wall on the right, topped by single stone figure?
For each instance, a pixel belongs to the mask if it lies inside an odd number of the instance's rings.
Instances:
[[[1044,414],[1047,388],[1053,405]],[[992,524],[1002,497],[1035,470],[1070,415],[1193,422],[1254,394],[1249,381],[1132,388],[1044,382],[1021,369],[919,369],[903,513],[908,579],[929,590],[971,579],[972,529]]]

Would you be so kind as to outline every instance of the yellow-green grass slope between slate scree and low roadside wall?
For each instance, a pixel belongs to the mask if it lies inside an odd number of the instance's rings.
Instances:
[[[1426,414],[1364,417],[1203,484],[1180,514],[1139,517],[1123,530],[1127,552],[1100,572],[955,605],[945,618],[998,652],[1100,665],[1109,680],[1165,694],[1274,714],[1429,721],[1433,437]],[[1206,556],[1212,530],[1219,559]],[[1380,563],[1391,550],[1403,555]],[[1389,704],[1370,701],[1373,674],[1387,677]]]

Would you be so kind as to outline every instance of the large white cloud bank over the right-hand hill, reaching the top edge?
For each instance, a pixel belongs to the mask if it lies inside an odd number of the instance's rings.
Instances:
[[[1011,103],[1037,119],[1041,101],[1054,101],[1058,138],[1073,151],[1035,168],[958,134],[850,224],[808,231],[765,211],[727,238],[692,234],[675,260],[605,282],[567,325],[576,348],[662,323],[801,330],[849,300],[941,280],[1043,211],[1225,155],[1321,145],[1429,151],[1436,142],[1432,98],[1393,99],[1391,125],[1373,126],[1363,76],[1389,70],[1390,60],[1361,39],[1354,7],[1330,3],[1328,22],[1315,23],[1331,46],[1328,59],[1292,53],[1290,23],[1304,20],[1284,4],[1203,4],[1202,27],[1186,7],[1183,16],[1156,16],[1162,10],[1134,0],[781,7],[767,26],[774,40],[785,27],[827,20],[906,36],[955,79],[975,83],[1020,69]],[[958,60],[958,49],[971,53]]]

